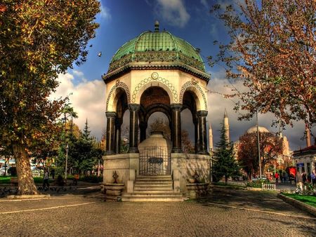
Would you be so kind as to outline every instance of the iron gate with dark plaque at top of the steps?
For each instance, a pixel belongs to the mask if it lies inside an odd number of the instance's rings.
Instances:
[[[166,147],[143,147],[139,154],[139,174],[170,175],[170,161]]]

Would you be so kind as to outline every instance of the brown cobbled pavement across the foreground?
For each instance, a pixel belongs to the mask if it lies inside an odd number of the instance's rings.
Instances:
[[[315,217],[271,193],[220,190],[180,203],[105,203],[96,196],[0,198],[0,236],[316,236]]]

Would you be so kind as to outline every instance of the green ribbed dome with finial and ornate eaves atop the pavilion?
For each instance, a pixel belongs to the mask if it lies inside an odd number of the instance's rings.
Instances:
[[[104,79],[126,69],[182,69],[209,81],[199,49],[166,30],[146,31],[124,43],[112,57]]]

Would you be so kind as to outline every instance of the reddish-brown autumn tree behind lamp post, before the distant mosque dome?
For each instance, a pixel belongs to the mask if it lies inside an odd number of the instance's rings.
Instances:
[[[261,153],[261,168],[275,163],[283,153],[283,144],[280,137],[273,133],[259,132],[259,147]],[[246,133],[239,137],[238,160],[242,168],[247,172],[248,177],[258,171],[258,140],[256,133]]]

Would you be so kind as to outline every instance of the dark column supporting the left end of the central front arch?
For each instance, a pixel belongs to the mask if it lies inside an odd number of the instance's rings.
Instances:
[[[129,153],[138,153],[139,104],[129,104]]]

